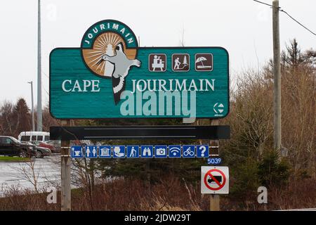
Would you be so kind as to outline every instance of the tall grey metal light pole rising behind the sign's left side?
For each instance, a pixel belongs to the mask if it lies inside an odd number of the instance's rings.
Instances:
[[[41,1],[37,1],[37,131],[42,131],[41,113]]]

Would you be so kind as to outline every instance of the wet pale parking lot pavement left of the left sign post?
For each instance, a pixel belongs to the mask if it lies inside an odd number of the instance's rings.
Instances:
[[[34,174],[38,176],[39,188],[52,186],[60,183],[60,164],[58,159],[60,155],[52,155],[49,157],[34,159]],[[3,194],[4,189],[11,186],[20,186],[21,188],[34,188],[34,186],[27,181],[25,173],[22,172],[24,168],[27,173],[32,173],[29,163],[25,162],[0,162],[0,195]],[[31,175],[31,177],[34,177]]]

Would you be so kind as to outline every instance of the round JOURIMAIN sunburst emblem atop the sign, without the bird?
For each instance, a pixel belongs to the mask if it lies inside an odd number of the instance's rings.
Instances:
[[[89,27],[84,34],[81,56],[86,67],[95,75],[111,78],[115,66],[119,65],[115,65],[115,60],[110,60],[110,57],[117,56],[119,52],[126,60],[134,60],[137,47],[136,36],[127,25],[117,20],[103,20]]]

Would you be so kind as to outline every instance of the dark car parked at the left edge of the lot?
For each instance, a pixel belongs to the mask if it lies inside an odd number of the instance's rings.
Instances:
[[[0,155],[19,156],[22,158],[36,156],[37,150],[26,143],[21,143],[13,136],[0,136]]]

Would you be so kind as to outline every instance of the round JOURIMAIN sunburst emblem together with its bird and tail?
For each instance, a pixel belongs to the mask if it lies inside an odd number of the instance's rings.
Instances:
[[[81,56],[93,74],[112,79],[114,103],[125,90],[131,67],[140,67],[136,59],[138,43],[133,31],[117,20],[92,25],[81,41]]]

